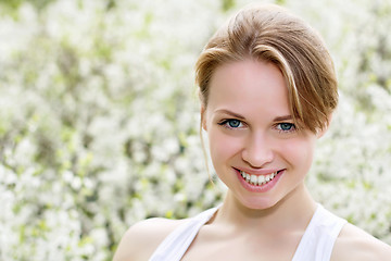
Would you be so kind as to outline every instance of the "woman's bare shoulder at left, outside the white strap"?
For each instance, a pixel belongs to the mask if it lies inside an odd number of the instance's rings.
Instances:
[[[186,220],[148,219],[125,233],[113,261],[148,260],[163,239]]]

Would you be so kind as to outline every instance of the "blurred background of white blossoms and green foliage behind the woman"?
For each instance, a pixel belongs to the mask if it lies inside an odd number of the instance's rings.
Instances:
[[[193,67],[249,2],[0,1],[0,260],[111,260],[135,222],[222,201]],[[311,191],[391,244],[391,2],[262,2],[307,21],[335,59],[340,104]]]

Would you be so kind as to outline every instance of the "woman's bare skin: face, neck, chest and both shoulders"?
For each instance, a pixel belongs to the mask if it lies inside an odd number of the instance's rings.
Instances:
[[[304,178],[323,133],[294,128],[282,74],[272,63],[253,60],[216,70],[201,113],[214,167],[228,192],[182,260],[291,260],[316,209]],[[254,191],[243,186],[238,170],[280,174],[270,188]],[[148,260],[182,222],[137,223],[114,260]],[[331,260],[391,260],[391,247],[348,224]]]

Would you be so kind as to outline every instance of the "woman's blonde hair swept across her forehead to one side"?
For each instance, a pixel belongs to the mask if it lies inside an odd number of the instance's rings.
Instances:
[[[272,62],[280,69],[299,127],[316,133],[328,125],[338,103],[336,72],[323,39],[305,22],[274,4],[240,10],[209,40],[195,64],[204,108],[216,69],[247,59]]]

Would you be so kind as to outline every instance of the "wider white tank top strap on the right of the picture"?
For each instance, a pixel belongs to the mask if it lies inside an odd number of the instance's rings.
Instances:
[[[329,261],[337,237],[345,224],[345,220],[318,204],[292,261]]]

